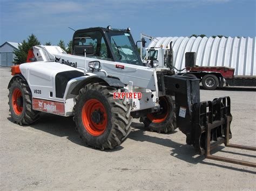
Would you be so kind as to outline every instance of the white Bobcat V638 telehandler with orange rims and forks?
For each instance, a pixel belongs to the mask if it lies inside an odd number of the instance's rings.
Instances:
[[[34,46],[27,63],[12,67],[8,89],[15,123],[30,125],[40,112],[73,116],[85,144],[104,150],[120,145],[132,118],[140,118],[153,131],[179,128],[186,143],[207,158],[255,167],[210,154],[223,143],[241,147],[229,144],[230,97],[200,102],[198,79],[175,75],[156,61],[144,66],[130,27],[77,30],[72,41],[72,54],[58,46]]]

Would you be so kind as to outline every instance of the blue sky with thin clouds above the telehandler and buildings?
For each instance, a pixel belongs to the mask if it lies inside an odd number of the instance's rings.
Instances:
[[[75,30],[111,25],[153,37],[191,34],[255,37],[256,0],[0,0],[0,45],[33,33],[41,44],[68,43]]]

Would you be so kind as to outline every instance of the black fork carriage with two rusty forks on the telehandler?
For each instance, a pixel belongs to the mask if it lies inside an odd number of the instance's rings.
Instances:
[[[196,132],[194,133],[194,135],[198,135],[198,133],[205,133],[206,135],[205,140],[200,140],[201,137],[197,139],[198,143],[195,143],[196,148],[199,149],[199,152],[201,154],[205,154],[205,158],[207,159],[256,167],[255,162],[219,157],[211,154],[211,151],[214,148],[218,147],[223,143],[227,147],[256,151],[256,147],[230,144],[230,138],[232,138],[232,133],[230,130],[232,115],[230,113],[230,110],[230,97],[220,97],[218,99],[213,100],[212,102],[208,101],[196,104],[196,112],[194,116],[196,117]],[[198,130],[201,130],[201,132],[199,132]]]

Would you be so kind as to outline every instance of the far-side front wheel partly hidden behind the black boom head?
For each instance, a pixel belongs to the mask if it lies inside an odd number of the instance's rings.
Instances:
[[[142,118],[145,128],[150,131],[173,132],[176,128],[175,103],[171,96],[159,97],[160,111]]]

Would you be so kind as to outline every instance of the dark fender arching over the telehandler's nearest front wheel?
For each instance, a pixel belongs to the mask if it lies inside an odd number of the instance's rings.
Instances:
[[[86,86],[87,84],[98,83],[98,82],[105,82],[109,86],[113,86],[113,87],[119,87],[119,88],[125,87],[125,84],[123,82],[121,82],[119,79],[116,79],[113,77],[107,77],[107,76],[93,75],[93,76],[84,78],[84,80],[80,80],[80,81],[72,83],[72,85],[70,86],[70,88],[68,90],[68,94],[67,94],[66,98],[72,97],[70,94],[78,95],[79,90],[81,88],[83,88],[84,86]]]

